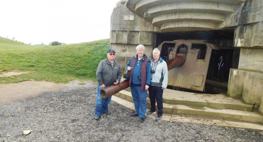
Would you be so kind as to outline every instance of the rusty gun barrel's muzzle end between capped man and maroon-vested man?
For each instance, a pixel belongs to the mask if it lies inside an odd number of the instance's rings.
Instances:
[[[124,80],[124,81],[121,81],[119,84],[117,85],[109,85],[109,86],[106,86],[105,88],[101,88],[101,97],[102,98],[108,98],[116,93],[118,93],[119,91],[123,90],[123,89],[126,89],[129,87],[129,80]]]

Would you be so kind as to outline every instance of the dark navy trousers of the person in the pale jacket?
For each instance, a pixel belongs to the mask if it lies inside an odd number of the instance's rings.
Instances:
[[[156,99],[157,108],[158,108],[157,115],[162,115],[162,109],[163,109],[162,94],[163,94],[162,86],[150,86],[149,87],[149,98],[151,101],[151,111],[152,112],[155,111],[155,99]]]

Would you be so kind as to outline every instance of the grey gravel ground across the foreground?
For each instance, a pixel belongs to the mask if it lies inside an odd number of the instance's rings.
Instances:
[[[260,132],[130,117],[110,102],[111,115],[94,120],[96,86],[46,92],[0,104],[0,141],[263,141]],[[24,130],[31,130],[24,135]]]

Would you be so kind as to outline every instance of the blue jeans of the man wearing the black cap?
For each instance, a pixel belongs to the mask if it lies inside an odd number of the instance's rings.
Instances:
[[[101,86],[98,85],[97,89],[97,102],[95,106],[95,116],[101,116],[102,112],[109,110],[108,104],[110,103],[111,96],[108,98],[102,98],[100,94]]]

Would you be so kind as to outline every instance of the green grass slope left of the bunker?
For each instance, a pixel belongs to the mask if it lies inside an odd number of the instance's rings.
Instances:
[[[32,46],[0,37],[0,73],[30,71],[0,77],[0,84],[28,80],[67,83],[71,80],[96,80],[99,62],[106,58],[109,39],[58,46]]]

